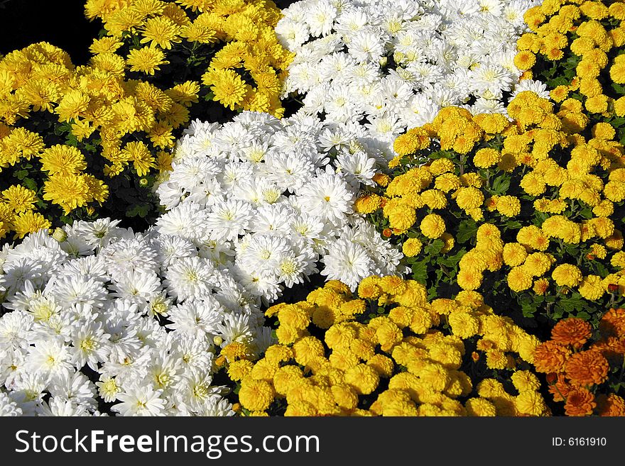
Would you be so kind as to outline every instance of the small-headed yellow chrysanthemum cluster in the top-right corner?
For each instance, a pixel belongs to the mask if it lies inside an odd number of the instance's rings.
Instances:
[[[581,60],[570,82],[550,91],[553,100],[561,102],[578,92],[589,113],[625,116],[625,96],[609,96],[612,88],[609,83],[602,85],[603,79],[599,79],[607,68],[614,83],[625,83],[625,61],[618,55],[625,44],[625,3],[547,0],[526,11],[524,18],[533,32],[518,40],[520,51],[514,63],[519,69],[531,70],[537,55],[551,62],[562,60],[568,48]],[[570,33],[574,33],[572,40],[567,36]]]

